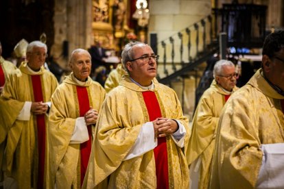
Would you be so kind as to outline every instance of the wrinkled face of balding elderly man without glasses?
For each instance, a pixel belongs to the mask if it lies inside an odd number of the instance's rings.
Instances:
[[[70,67],[73,74],[80,81],[86,81],[88,75],[91,73],[91,57],[86,52],[75,53],[73,55],[73,62],[70,63]]]

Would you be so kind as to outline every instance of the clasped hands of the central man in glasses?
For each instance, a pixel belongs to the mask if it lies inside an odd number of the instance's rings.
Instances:
[[[156,118],[152,123],[154,125],[155,137],[171,135],[178,130],[178,123],[172,119]]]

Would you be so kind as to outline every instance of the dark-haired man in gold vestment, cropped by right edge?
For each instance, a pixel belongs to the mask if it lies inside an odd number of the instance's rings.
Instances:
[[[211,188],[284,188],[284,31],[263,44],[262,68],[226,103]]]

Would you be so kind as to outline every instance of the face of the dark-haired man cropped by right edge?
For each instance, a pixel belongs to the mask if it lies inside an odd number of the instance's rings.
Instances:
[[[263,67],[272,84],[284,90],[284,48],[275,53],[274,58],[270,58]]]

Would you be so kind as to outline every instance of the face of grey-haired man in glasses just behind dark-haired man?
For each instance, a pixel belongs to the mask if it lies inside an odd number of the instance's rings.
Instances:
[[[215,79],[222,88],[232,91],[237,82],[235,66],[222,66],[220,75],[215,76]]]

